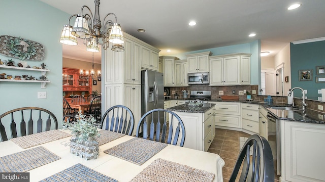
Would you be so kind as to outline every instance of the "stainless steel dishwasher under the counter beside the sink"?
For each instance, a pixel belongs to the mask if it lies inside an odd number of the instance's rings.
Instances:
[[[276,173],[277,175],[281,175],[280,120],[271,112],[268,112],[267,118],[268,141],[271,146]]]

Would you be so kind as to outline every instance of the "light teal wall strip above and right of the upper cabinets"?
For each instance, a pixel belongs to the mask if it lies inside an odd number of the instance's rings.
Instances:
[[[255,40],[250,43],[243,43],[237,45],[229,45],[226,47],[220,48],[212,48],[212,49],[205,49],[205,50],[198,50],[192,51],[177,55],[175,56],[179,59],[187,59],[185,55],[194,54],[194,53],[202,53],[210,51],[212,56],[216,55],[224,55],[224,54],[232,54],[232,53],[250,53],[252,54],[250,57],[250,83],[252,85],[258,85],[261,81],[261,56],[259,56],[259,52],[261,52],[261,41]]]

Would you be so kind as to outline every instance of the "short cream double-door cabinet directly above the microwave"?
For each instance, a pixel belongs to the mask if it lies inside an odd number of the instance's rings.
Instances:
[[[186,55],[188,63],[188,73],[208,72],[209,56],[211,55],[211,52]]]

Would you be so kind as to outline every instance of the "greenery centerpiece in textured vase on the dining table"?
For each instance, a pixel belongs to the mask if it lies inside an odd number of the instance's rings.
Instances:
[[[70,152],[82,158],[96,159],[99,155],[99,144],[96,141],[100,134],[93,116],[86,116],[78,112],[76,122],[62,122],[63,129],[69,129],[72,137]]]

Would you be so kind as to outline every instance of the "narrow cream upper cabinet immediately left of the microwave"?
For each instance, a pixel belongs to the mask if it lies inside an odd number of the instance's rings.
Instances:
[[[188,86],[187,71],[187,60],[175,61],[175,86]]]

